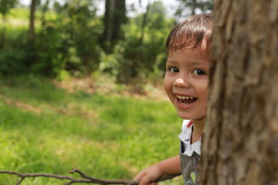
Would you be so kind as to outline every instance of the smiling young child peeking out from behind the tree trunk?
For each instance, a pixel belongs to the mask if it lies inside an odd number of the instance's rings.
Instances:
[[[212,15],[188,17],[167,37],[168,58],[164,89],[183,118],[180,154],[142,170],[133,180],[140,185],[167,174],[181,173],[184,183],[197,184],[197,161],[206,116],[208,53],[211,46]]]

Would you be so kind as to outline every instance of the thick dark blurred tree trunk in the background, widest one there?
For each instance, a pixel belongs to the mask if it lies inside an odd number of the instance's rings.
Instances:
[[[117,41],[122,38],[122,24],[126,23],[125,0],[106,0],[104,13],[104,33],[101,37],[104,50],[111,53]]]

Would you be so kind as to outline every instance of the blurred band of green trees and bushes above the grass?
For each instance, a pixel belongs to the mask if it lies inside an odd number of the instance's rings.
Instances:
[[[36,6],[31,19],[30,8],[16,0],[1,0],[0,73],[37,73],[56,78],[61,73],[87,76],[100,72],[124,83],[136,78],[161,78],[165,38],[176,23],[174,17],[165,15],[163,3],[149,1],[145,12],[127,17],[124,0],[107,0],[104,15],[97,14],[99,1],[32,0]],[[211,10],[210,1],[179,3],[192,9],[187,15]],[[178,8],[176,18],[181,12]],[[35,34],[30,42],[27,31],[32,21]]]

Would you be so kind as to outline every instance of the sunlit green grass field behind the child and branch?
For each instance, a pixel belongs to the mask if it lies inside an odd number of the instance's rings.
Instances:
[[[179,150],[181,120],[168,102],[68,94],[32,76],[2,78],[0,87],[0,170],[70,176],[78,168],[92,177],[131,180]],[[0,175],[0,184],[15,182],[15,176]],[[22,184],[63,183],[40,177]]]

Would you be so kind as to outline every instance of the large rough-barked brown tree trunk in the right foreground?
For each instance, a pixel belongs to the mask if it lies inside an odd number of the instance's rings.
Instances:
[[[278,184],[278,0],[215,0],[199,184]]]

